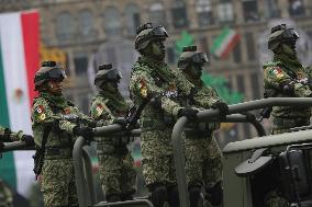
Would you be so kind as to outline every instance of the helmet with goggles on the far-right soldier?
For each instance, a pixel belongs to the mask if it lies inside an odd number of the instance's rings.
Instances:
[[[269,35],[268,48],[274,50],[280,43],[290,43],[299,38],[299,34],[294,28],[287,28],[286,24],[280,24],[271,28],[271,34]]]

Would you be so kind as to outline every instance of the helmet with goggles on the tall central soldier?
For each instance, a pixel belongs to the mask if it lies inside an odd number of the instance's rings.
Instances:
[[[158,25],[153,27],[151,22],[145,23],[136,28],[135,49],[144,49],[151,41],[166,39],[167,37],[168,34],[164,26]]]

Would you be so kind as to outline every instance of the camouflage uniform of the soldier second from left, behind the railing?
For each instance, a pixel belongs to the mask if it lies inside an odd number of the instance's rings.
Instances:
[[[100,91],[91,103],[91,116],[99,120],[98,125],[112,124],[118,117],[125,117],[129,103],[120,92],[111,94]],[[97,139],[97,138],[96,138]],[[120,195],[122,200],[131,198],[135,193],[136,171],[133,158],[126,145],[130,137],[101,137],[97,139],[97,152],[100,165],[100,179],[107,197]]]

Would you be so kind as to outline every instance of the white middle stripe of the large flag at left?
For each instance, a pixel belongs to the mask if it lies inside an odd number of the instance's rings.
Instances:
[[[31,135],[27,74],[22,35],[21,13],[0,15],[0,37],[10,127],[12,130],[23,130]],[[21,100],[15,96],[16,90],[22,92]],[[14,152],[18,192],[22,195],[29,195],[29,187],[34,182],[33,153],[30,151]]]

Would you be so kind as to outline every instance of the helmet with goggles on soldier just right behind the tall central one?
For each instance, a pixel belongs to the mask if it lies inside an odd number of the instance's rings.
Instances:
[[[185,70],[189,65],[204,65],[208,62],[209,59],[205,53],[197,51],[197,46],[187,46],[182,49],[182,54],[180,55],[178,61],[178,67],[179,69]]]

